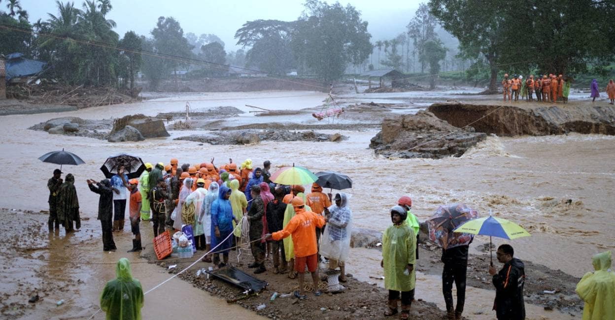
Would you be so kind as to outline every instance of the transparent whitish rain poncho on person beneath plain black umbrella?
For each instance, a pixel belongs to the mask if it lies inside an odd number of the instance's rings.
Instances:
[[[350,251],[352,211],[348,206],[348,195],[340,192],[339,206],[330,206],[329,220],[320,239],[320,254],[328,259],[346,261]]]

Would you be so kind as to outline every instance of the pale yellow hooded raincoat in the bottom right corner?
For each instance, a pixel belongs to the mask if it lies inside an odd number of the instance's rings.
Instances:
[[[583,320],[615,319],[615,273],[611,267],[611,251],[592,258],[594,272],[585,273],[576,292],[585,302]]]

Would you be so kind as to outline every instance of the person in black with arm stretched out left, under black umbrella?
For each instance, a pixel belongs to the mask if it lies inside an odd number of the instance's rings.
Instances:
[[[103,251],[116,251],[113,241],[113,191],[111,181],[105,179],[101,182],[88,179],[87,185],[90,190],[100,195],[98,200],[98,220],[103,229]],[[96,186],[94,186],[96,185]]]

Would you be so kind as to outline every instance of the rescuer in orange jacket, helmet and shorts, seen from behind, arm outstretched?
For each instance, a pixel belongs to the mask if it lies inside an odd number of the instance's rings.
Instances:
[[[305,202],[300,197],[293,198],[291,205],[295,210],[295,216],[290,219],[284,229],[274,233],[267,233],[264,235],[264,238],[273,238],[273,240],[279,241],[290,235],[293,236],[295,271],[299,273],[299,291],[295,291],[293,294],[297,299],[303,300],[306,299],[303,286],[306,267],[312,273],[314,295],[319,296],[321,294],[318,289],[318,247],[316,244],[315,228],[325,225],[325,218],[312,211],[306,211]]]

